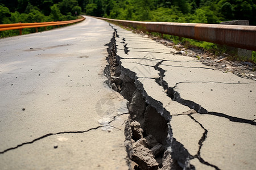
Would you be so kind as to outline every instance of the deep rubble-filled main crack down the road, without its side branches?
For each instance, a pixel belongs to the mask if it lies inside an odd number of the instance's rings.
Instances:
[[[162,147],[160,147],[162,149],[159,148],[160,150],[157,151],[158,154],[155,155],[155,159],[159,160],[159,158],[160,158],[162,160],[162,161],[158,162],[158,167],[161,168],[163,161],[171,161],[171,160],[165,160],[167,158],[164,157],[164,155],[168,155],[167,152],[165,152],[166,154],[164,154],[164,151],[166,151],[167,147],[168,147],[167,141],[169,139],[167,139],[167,137],[168,137],[168,135],[167,135],[168,134],[167,133],[168,126],[167,125],[171,118],[170,113],[168,113],[166,111],[166,109],[163,107],[162,103],[160,103],[159,101],[157,101],[147,95],[147,92],[144,90],[143,84],[141,82],[139,82],[138,77],[136,76],[136,73],[134,73],[133,71],[131,71],[129,69],[126,69],[125,67],[123,67],[121,65],[122,58],[117,56],[117,54],[116,54],[116,50],[117,50],[116,45],[115,45],[115,35],[116,34],[117,34],[117,30],[114,29],[113,38],[112,38],[111,42],[108,44],[109,56],[108,56],[107,60],[109,62],[109,65],[106,66],[106,68],[105,68],[105,73],[106,73],[105,75],[109,79],[110,87],[112,87],[113,90],[118,91],[121,95],[123,95],[125,97],[125,99],[129,100],[129,104],[127,105],[127,108],[129,109],[129,112],[130,112],[130,117],[131,117],[130,121],[133,121],[130,123],[134,124],[134,121],[135,122],[138,121],[136,124],[139,124],[144,131],[143,134],[141,134],[141,135],[143,135],[142,139],[149,138],[149,136],[152,135],[152,137],[158,141],[158,143],[159,143],[158,145],[162,146]],[[126,47],[127,47],[127,44],[124,46],[124,48],[126,48]],[[120,49],[120,50],[122,50],[122,49]],[[149,59],[149,58],[146,58],[146,59]],[[151,60],[151,59],[149,59],[149,60]],[[157,61],[157,60],[154,59],[154,61]],[[138,96],[143,96],[143,99],[140,99],[139,101],[134,101]],[[137,112],[138,110],[137,109],[134,110],[133,107],[135,107],[138,104],[138,102],[144,103],[144,110],[140,111],[141,114],[138,114],[137,116],[134,117],[134,115],[137,114],[135,112]],[[141,108],[142,105],[143,104],[139,104],[138,109]],[[115,119],[115,117],[114,117],[114,119]],[[158,120],[158,121],[156,121],[156,120]],[[110,121],[110,122],[112,122],[112,121]],[[129,142],[129,140],[130,141],[134,140],[134,142],[135,142],[134,145],[139,145],[137,142],[138,139],[135,139],[135,134],[134,134],[135,131],[133,131],[133,133],[131,133],[131,131],[130,131],[130,128],[129,128],[130,123],[129,123],[129,121],[126,122],[127,128],[125,130],[125,135],[126,135],[125,143],[126,143],[126,151],[128,154],[128,158],[137,162],[137,164],[139,165],[140,168],[147,169],[147,168],[149,168],[149,167],[147,167],[148,165],[146,165],[146,167],[145,167],[145,164],[143,163],[143,161],[146,161],[146,160],[143,160],[143,158],[138,159],[137,156],[135,156],[137,154],[137,151],[135,151],[135,150],[137,150],[137,148],[136,147],[133,148],[132,143]],[[150,148],[151,147],[148,147],[147,149],[150,149]],[[142,150],[139,150],[139,152],[142,152]],[[146,155],[148,155],[148,154],[146,154]],[[129,160],[127,160],[127,162],[129,162]],[[156,160],[154,160],[153,162],[156,163]],[[179,165],[177,165],[177,161],[175,161],[175,160],[172,161],[172,164],[179,167]],[[149,165],[149,166],[151,166],[151,165]],[[152,165],[151,168],[153,168],[155,166],[156,166],[156,164]]]

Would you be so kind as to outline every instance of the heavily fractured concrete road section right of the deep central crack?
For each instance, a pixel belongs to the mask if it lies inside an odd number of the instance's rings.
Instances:
[[[166,120],[172,158],[184,169],[256,167],[256,82],[222,73],[120,27],[121,71]]]

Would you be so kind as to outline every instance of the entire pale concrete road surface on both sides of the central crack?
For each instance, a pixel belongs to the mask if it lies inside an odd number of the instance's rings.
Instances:
[[[135,103],[139,112],[153,116],[144,121],[163,122],[154,109],[167,121],[162,144],[169,162],[183,169],[255,169],[254,80],[112,27],[121,76],[142,92],[147,108]],[[104,76],[112,27],[88,16],[69,27],[0,40],[1,169],[129,169],[127,100]],[[144,133],[158,136],[144,126]],[[152,127],[160,138],[165,134],[162,125]],[[162,169],[175,169],[162,157]]]

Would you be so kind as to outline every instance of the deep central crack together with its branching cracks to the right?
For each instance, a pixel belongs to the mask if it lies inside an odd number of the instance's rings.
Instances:
[[[110,25],[112,28],[113,26]],[[126,37],[119,37],[119,39],[122,39],[122,41],[119,41],[119,44],[124,44],[123,46],[117,46],[115,44],[116,40],[115,37],[118,37],[117,29],[114,29],[113,39],[109,46],[109,66],[107,67],[109,71],[109,86],[113,88],[113,90],[119,92],[121,95],[123,95],[128,101],[129,104],[127,104],[127,108],[129,109],[130,113],[130,121],[127,122],[130,123],[129,125],[129,133],[126,133],[130,135],[131,142],[129,143],[129,149],[127,149],[129,158],[135,162],[131,162],[132,167],[131,168],[141,168],[141,169],[195,169],[195,166],[193,164],[189,163],[189,160],[192,159],[198,159],[201,164],[204,164],[207,167],[211,167],[214,169],[221,169],[215,164],[207,162],[204,158],[201,156],[201,148],[204,145],[205,140],[208,138],[208,129],[204,127],[203,124],[201,124],[195,117],[193,117],[193,114],[208,114],[216,117],[223,117],[227,118],[231,122],[238,122],[242,124],[249,124],[249,125],[256,125],[255,121],[248,120],[245,118],[230,116],[228,114],[224,113],[218,113],[218,112],[208,112],[207,109],[201,107],[200,104],[197,104],[196,102],[192,100],[183,99],[179,92],[175,91],[175,88],[182,83],[195,83],[195,82],[177,82],[174,87],[169,87],[168,83],[164,80],[164,73],[166,70],[162,69],[161,66],[168,66],[168,67],[181,67],[181,68],[189,68],[189,69],[206,69],[206,70],[215,70],[209,67],[188,67],[188,66],[175,66],[175,65],[167,65],[163,64],[164,61],[170,61],[170,62],[177,62],[177,63],[186,63],[186,62],[195,62],[198,61],[174,61],[170,59],[158,59],[158,58],[150,58],[147,56],[144,56],[143,58],[137,58],[134,56],[131,56],[130,50],[129,50],[129,42],[126,42]],[[136,48],[140,49],[140,48]],[[143,48],[141,48],[143,49]],[[129,55],[129,57],[120,57],[117,54],[117,50],[123,50],[123,52],[126,55]],[[137,51],[137,52],[147,52],[147,51]],[[152,52],[154,53],[154,52]],[[158,52],[155,52],[158,53]],[[162,53],[162,52],[161,52]],[[162,53],[165,54],[165,53]],[[126,68],[122,65],[122,61],[125,61],[126,59],[131,59],[133,61],[126,62],[126,63],[132,63],[137,64],[141,66],[151,67],[154,68],[156,71],[158,71],[159,77],[150,77],[150,76],[139,76],[136,71],[130,70],[129,68]],[[155,65],[150,65],[148,63],[141,63],[141,61],[152,61],[156,62]],[[155,80],[155,83],[157,83],[160,87],[163,88],[164,92],[168,97],[170,97],[171,101],[175,101],[181,105],[184,105],[191,109],[191,111],[183,112],[180,114],[171,114],[167,111],[166,106],[161,103],[161,101],[158,101],[154,99],[153,97],[149,96],[147,94],[147,91],[144,89],[143,82],[141,82],[140,79],[153,79]],[[208,81],[208,82],[201,82],[201,83],[220,83],[220,84],[249,84],[249,83],[227,83],[227,82],[217,82],[217,81]],[[170,102],[171,103],[171,102]],[[169,103],[169,104],[170,104]],[[148,116],[148,113],[152,112],[152,115],[150,117]],[[172,116],[184,116],[187,115],[193,122],[199,125],[199,127],[203,130],[201,138],[198,141],[198,150],[195,155],[191,155],[189,151],[185,148],[185,146],[178,142],[172,133],[172,126],[171,126],[171,120]],[[155,125],[154,122],[158,120],[158,118],[162,121],[161,123],[158,122],[158,124],[161,124],[161,126],[158,127],[158,125]],[[145,121],[147,120],[147,121]],[[147,128],[150,126],[150,128],[156,128],[158,129],[158,133],[162,133],[162,135],[158,136],[157,133],[154,133],[152,131],[149,131]],[[151,155],[155,152],[152,151],[151,147],[148,147],[147,145],[147,138],[148,135],[152,135],[156,141],[159,143],[157,145],[161,145],[159,148],[159,155],[152,155],[148,158],[143,158],[143,156],[140,158],[138,155],[145,155],[147,153],[148,155]],[[145,141],[146,140],[146,141]],[[154,141],[154,139],[152,139]],[[145,144],[146,143],[146,144]],[[151,152],[148,152],[148,149]],[[140,151],[138,151],[140,150]]]

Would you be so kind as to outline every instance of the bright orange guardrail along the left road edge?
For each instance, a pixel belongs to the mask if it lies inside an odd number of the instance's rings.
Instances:
[[[47,27],[47,26],[55,26],[55,25],[65,25],[81,22],[85,20],[82,16],[81,19],[75,20],[67,20],[62,22],[43,22],[43,23],[15,23],[15,24],[0,24],[0,31],[11,30],[11,29],[19,29],[19,34],[22,35],[23,28],[36,28],[36,32],[38,32],[38,27]]]

